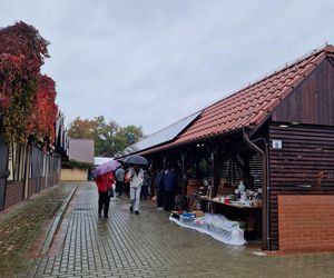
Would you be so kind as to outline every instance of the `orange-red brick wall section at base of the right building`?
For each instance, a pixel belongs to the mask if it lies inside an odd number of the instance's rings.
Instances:
[[[334,196],[278,196],[283,251],[334,250]]]

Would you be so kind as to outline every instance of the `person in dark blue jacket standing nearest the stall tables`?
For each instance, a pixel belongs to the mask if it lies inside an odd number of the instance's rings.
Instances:
[[[164,207],[166,211],[175,207],[175,196],[178,187],[178,175],[174,168],[164,173]]]

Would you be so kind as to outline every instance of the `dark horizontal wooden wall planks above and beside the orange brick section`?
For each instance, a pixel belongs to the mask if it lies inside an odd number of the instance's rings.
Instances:
[[[282,149],[272,141],[282,140]],[[279,195],[334,195],[334,127],[269,126],[271,238],[278,249]]]

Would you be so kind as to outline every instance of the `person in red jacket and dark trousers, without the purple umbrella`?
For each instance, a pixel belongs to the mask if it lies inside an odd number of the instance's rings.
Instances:
[[[110,202],[110,196],[109,192],[112,192],[112,185],[115,182],[115,176],[112,172],[107,172],[105,175],[98,176],[95,179],[98,192],[99,192],[99,208],[98,214],[99,217],[101,217],[101,212],[104,209],[104,215],[106,218],[108,218],[109,212],[109,202]]]

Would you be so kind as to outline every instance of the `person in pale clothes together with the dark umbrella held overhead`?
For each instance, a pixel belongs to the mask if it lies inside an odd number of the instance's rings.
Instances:
[[[124,161],[134,165],[127,173],[130,180],[130,212],[135,210],[135,214],[139,215],[140,189],[144,181],[144,170],[140,168],[140,165],[147,165],[148,161],[137,155],[129,156]]]

